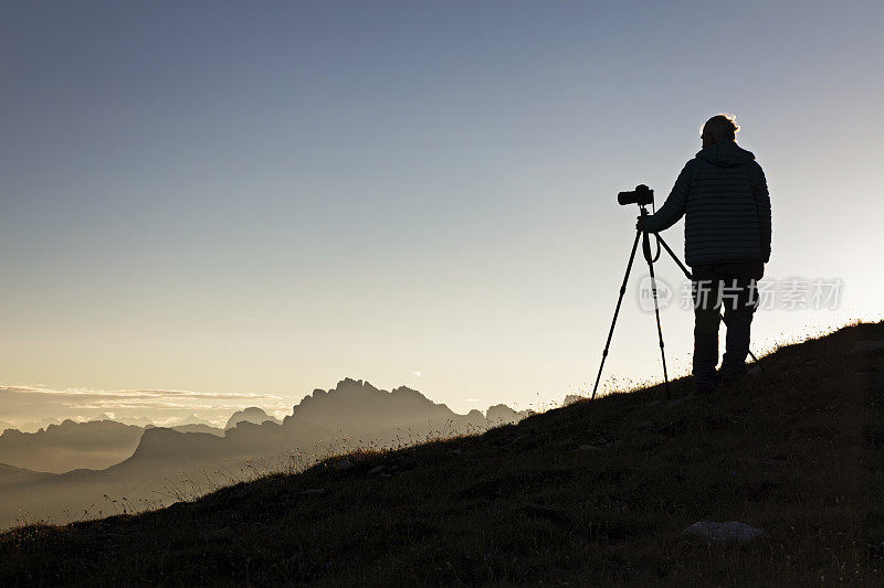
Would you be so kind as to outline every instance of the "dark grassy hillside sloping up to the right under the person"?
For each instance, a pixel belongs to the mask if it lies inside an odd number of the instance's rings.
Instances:
[[[20,528],[0,536],[0,585],[882,581],[884,352],[849,352],[869,339],[884,323],[783,348],[708,397],[682,379],[671,403],[612,395],[346,470]],[[699,520],[767,535],[682,534]]]

